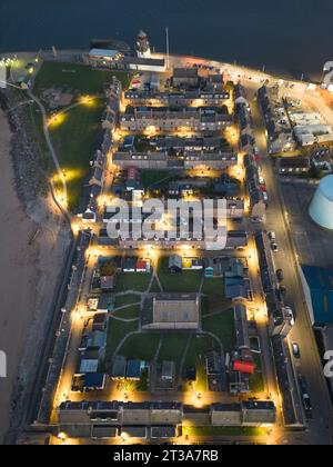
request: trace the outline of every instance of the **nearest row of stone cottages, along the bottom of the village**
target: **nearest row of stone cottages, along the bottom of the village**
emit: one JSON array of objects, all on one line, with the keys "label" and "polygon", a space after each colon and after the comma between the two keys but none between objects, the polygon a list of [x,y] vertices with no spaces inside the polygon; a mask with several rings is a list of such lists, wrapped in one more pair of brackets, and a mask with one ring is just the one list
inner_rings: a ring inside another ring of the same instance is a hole
[{"label": "nearest row of stone cottages, along the bottom of the village", "polygon": [[[213,404],[202,413],[212,426],[271,426],[276,421],[272,401],[255,400],[241,404]],[[62,403],[58,409],[59,425],[68,435],[90,437],[92,426],[179,426],[195,417],[192,407],[181,403]]]}]

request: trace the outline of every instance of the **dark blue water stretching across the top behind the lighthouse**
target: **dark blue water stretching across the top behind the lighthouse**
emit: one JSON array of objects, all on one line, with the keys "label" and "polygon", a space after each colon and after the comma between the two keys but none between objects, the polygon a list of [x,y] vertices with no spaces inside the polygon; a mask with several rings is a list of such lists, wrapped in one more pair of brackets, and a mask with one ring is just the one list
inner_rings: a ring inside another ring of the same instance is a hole
[{"label": "dark blue water stretching across the top behind the lighthouse", "polygon": [[332,0],[1,0],[0,51],[133,44],[144,29],[158,51],[320,76],[333,60]]}]

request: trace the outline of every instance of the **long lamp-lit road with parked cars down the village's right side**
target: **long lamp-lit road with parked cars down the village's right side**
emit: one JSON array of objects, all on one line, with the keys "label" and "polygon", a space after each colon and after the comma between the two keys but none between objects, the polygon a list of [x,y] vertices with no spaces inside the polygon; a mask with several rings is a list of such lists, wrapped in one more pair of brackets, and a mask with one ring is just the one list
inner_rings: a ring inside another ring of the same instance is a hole
[{"label": "long lamp-lit road with parked cars down the village's right side", "polygon": [[316,445],[332,444],[332,405],[299,276],[299,264],[291,238],[291,226],[289,225],[279,179],[266,151],[265,128],[258,105],[254,101],[256,87],[249,85],[249,82],[245,86],[251,100],[255,127],[254,136],[262,155],[263,177],[266,181],[269,193],[270,207],[265,228],[276,232],[279,252],[274,255],[275,266],[276,269],[281,268],[284,271],[285,286],[287,288],[286,304],[295,310],[296,315],[296,324],[290,337],[291,341],[296,341],[300,345],[302,354],[296,372],[306,378],[313,403],[314,417],[313,420],[309,421],[311,439]]}]

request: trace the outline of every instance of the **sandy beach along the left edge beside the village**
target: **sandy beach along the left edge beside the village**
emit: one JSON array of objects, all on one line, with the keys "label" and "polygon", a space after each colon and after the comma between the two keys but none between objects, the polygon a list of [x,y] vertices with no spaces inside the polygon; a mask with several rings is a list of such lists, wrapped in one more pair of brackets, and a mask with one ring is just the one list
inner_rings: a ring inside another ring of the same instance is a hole
[{"label": "sandy beach along the left edge beside the village", "polygon": [[68,232],[48,200],[28,207],[29,215],[19,202],[10,138],[0,110],[0,350],[6,351],[8,360],[8,377],[0,379],[0,444],[12,409],[21,410],[20,398],[31,382],[68,245]]}]

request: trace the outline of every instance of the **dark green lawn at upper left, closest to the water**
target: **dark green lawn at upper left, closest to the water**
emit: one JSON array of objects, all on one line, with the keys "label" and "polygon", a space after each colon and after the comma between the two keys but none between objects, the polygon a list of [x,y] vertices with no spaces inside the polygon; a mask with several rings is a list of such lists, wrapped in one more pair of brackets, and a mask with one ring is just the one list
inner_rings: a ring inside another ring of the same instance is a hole
[{"label": "dark green lawn at upper left, closest to the water", "polygon": [[127,89],[131,74],[108,70],[94,70],[84,64],[44,61],[34,81],[33,91],[41,95],[46,89],[63,89],[73,93],[100,93],[115,76]]}]

